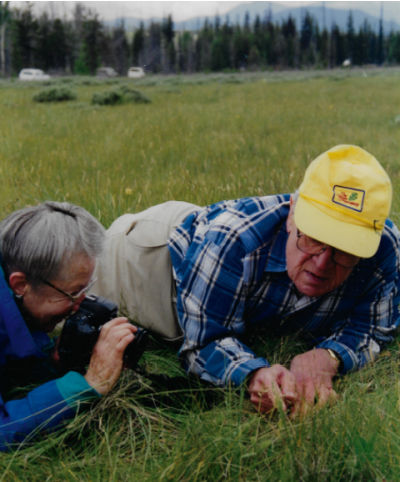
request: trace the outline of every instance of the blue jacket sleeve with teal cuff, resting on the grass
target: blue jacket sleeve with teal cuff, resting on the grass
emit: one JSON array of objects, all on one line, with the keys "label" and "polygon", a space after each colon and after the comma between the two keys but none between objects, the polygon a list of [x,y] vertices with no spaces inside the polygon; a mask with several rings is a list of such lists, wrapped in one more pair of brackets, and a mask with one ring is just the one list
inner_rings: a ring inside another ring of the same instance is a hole
[{"label": "blue jacket sleeve with teal cuff, resting on the grass", "polygon": [[0,397],[0,450],[6,451],[72,418],[82,403],[99,398],[85,378],[68,372],[6,403]]}]

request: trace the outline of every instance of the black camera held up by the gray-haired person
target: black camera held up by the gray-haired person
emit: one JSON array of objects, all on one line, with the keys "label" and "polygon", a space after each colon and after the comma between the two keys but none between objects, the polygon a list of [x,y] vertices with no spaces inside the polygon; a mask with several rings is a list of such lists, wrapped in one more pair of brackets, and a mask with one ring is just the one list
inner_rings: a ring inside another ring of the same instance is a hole
[{"label": "black camera held up by the gray-haired person", "polygon": [[[104,323],[118,315],[113,302],[101,296],[88,295],[78,311],[64,323],[58,344],[61,367],[68,371],[84,373],[89,364],[93,347]],[[148,332],[138,328],[134,340],[126,347],[124,365],[134,370],[148,341]]]}]

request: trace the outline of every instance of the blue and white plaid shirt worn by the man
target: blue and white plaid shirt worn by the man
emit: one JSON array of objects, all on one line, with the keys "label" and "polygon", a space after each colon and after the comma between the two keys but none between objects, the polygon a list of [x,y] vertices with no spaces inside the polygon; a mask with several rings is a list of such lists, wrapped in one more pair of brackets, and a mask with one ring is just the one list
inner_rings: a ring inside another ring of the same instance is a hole
[{"label": "blue and white plaid shirt worn by the man", "polygon": [[171,235],[189,372],[216,385],[241,384],[269,366],[240,341],[249,326],[302,332],[331,348],[343,373],[373,360],[399,324],[400,233],[386,222],[373,258],[360,260],[336,290],[299,293],[286,272],[289,195],[222,201],[189,215]]}]

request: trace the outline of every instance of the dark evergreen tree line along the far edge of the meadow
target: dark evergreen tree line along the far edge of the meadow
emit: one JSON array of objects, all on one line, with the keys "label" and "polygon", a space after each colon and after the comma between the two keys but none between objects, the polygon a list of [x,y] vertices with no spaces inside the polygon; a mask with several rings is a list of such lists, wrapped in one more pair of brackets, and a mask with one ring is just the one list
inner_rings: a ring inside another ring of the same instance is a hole
[{"label": "dark evergreen tree line along the far edge of the meadow", "polygon": [[171,16],[133,33],[125,25],[107,28],[98,14],[76,4],[71,19],[35,16],[32,4],[10,9],[0,1],[0,72],[15,75],[24,67],[49,72],[94,74],[99,66],[126,75],[131,65],[154,73],[192,73],[267,68],[333,68],[400,63],[400,33],[378,32],[367,21],[355,29],[349,11],[347,28],[321,29],[306,11],[301,25],[292,17],[280,23],[266,13],[243,25],[216,17],[200,30],[175,31]]}]

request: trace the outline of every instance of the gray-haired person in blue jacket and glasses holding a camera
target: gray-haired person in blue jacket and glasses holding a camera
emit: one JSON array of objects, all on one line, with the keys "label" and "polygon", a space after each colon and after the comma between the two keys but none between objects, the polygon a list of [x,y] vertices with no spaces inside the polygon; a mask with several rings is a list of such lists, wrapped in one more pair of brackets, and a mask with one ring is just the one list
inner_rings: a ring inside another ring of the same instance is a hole
[{"label": "gray-haired person in blue jacket and glasses holding a camera", "polygon": [[[85,375],[60,376],[47,335],[79,308],[103,241],[99,222],[68,203],[21,209],[0,223],[0,450],[73,417],[119,378],[136,331],[126,318],[103,326]],[[33,382],[42,384],[14,399],[13,388]]]}]

